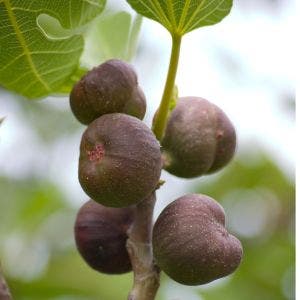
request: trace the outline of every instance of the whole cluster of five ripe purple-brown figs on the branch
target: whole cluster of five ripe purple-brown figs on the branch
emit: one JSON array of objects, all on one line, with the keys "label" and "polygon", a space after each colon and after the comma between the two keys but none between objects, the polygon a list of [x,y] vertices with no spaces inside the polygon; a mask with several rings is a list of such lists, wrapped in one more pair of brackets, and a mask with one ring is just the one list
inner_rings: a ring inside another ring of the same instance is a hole
[{"label": "whole cluster of five ripe purple-brown figs on the branch", "polygon": [[[209,101],[179,98],[159,143],[142,122],[146,100],[137,75],[117,59],[83,76],[71,91],[70,105],[88,126],[80,145],[79,182],[91,200],[76,218],[78,251],[99,272],[129,272],[126,240],[136,204],[157,189],[162,169],[192,178],[225,166],[235,152],[234,127]],[[225,228],[223,208],[201,194],[180,197],[162,211],[152,244],[159,268],[185,285],[232,273],[243,252]]]}]

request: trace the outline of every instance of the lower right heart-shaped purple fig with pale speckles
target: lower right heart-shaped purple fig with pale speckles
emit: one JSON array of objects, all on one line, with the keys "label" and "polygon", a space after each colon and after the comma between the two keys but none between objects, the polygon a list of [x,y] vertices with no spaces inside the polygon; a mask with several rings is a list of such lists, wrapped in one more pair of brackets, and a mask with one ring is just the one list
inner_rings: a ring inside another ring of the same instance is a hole
[{"label": "lower right heart-shaped purple fig with pale speckles", "polygon": [[235,271],[243,249],[225,229],[223,208],[208,196],[188,194],[159,215],[153,228],[153,253],[173,280],[200,285]]}]

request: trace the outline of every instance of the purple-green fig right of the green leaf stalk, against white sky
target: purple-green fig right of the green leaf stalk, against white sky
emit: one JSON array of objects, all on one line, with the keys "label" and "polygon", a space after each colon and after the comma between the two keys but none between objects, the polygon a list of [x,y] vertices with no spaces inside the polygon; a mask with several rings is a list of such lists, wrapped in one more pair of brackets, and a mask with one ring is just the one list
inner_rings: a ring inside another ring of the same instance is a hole
[{"label": "purple-green fig right of the green leaf stalk, against white sky", "polygon": [[236,133],[219,107],[199,97],[183,97],[169,116],[161,144],[164,169],[193,178],[215,172],[231,160]]}]

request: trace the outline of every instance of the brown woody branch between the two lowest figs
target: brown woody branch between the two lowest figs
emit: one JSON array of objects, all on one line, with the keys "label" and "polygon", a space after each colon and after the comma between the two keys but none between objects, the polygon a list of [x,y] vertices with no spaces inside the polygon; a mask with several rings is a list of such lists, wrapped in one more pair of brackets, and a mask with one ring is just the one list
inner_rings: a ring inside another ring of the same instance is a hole
[{"label": "brown woody branch between the two lowest figs", "polygon": [[159,288],[159,268],[152,254],[152,219],[156,202],[153,192],[138,203],[128,230],[127,251],[134,272],[134,283],[128,300],[154,300]]}]

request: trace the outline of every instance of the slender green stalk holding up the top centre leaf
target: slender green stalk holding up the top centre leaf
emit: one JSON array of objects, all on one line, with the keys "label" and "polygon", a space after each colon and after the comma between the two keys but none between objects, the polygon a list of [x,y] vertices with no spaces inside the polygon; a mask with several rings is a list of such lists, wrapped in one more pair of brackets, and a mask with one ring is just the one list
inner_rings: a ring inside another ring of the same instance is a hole
[{"label": "slender green stalk holding up the top centre leaf", "polygon": [[163,96],[157,111],[156,118],[153,121],[152,131],[156,138],[160,141],[164,135],[167,124],[168,112],[175,86],[176,73],[180,55],[181,36],[178,34],[172,35],[172,52],[169,64],[167,80],[163,92]]}]

